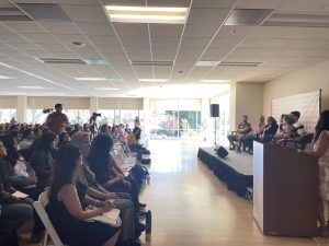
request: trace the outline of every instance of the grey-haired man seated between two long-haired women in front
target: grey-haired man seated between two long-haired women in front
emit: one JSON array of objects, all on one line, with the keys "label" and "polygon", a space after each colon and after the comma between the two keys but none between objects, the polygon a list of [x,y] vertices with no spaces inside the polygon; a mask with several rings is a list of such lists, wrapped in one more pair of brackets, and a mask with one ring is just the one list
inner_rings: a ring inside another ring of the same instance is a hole
[{"label": "grey-haired man seated between two long-haired women in front", "polygon": [[89,199],[92,203],[100,202],[100,200],[111,199],[115,208],[121,210],[120,216],[122,219],[122,231],[120,239],[121,242],[124,242],[122,245],[133,246],[134,243],[132,241],[139,236],[140,231],[138,231],[138,229],[140,230],[143,225],[139,224],[138,214],[134,210],[131,197],[125,194],[109,192],[97,183],[95,175],[86,163],[86,156],[90,148],[90,133],[75,133],[72,136],[71,143],[76,144],[82,154],[81,176],[79,178],[79,183],[88,187],[87,195],[90,197]]}]

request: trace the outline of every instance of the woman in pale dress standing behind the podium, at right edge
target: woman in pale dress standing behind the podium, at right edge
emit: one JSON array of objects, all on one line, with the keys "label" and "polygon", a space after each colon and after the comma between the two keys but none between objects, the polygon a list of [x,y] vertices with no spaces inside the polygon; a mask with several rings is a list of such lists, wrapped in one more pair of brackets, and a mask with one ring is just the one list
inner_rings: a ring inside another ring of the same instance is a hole
[{"label": "woman in pale dress standing behind the podium, at right edge", "polygon": [[329,210],[329,110],[321,113],[316,126],[314,150],[298,150],[297,152],[310,154],[319,160],[319,235],[322,237],[329,237],[329,224],[326,226],[324,211],[324,202],[328,203],[327,208]]}]

